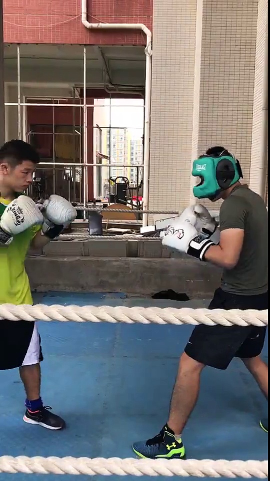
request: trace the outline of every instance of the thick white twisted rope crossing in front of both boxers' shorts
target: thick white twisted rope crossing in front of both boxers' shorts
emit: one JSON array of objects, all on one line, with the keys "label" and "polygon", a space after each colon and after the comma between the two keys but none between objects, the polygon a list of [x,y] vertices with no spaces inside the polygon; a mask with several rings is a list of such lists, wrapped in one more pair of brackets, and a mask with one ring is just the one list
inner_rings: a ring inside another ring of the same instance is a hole
[{"label": "thick white twisted rope crossing in front of both boxers' shorts", "polygon": [[10,321],[74,321],[125,324],[205,324],[206,326],[267,326],[268,310],[190,309],[110,306],[46,306],[0,304],[0,319]]}]

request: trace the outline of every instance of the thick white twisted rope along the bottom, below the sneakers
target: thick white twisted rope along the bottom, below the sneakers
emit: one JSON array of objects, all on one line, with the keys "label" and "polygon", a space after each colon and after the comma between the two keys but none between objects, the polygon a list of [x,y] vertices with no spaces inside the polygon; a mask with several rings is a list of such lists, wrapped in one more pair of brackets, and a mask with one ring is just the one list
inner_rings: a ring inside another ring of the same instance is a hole
[{"label": "thick white twisted rope along the bottom, below the sneakers", "polygon": [[227,461],[219,459],[108,459],[97,457],[0,457],[0,472],[26,474],[101,474],[109,476],[196,476],[196,477],[244,477],[266,478],[268,461]]}]

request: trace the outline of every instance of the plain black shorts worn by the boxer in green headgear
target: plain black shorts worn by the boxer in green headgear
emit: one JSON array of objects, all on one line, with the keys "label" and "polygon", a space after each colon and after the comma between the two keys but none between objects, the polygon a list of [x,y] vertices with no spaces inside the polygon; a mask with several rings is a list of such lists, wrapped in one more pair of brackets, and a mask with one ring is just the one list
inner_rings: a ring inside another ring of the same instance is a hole
[{"label": "plain black shorts worn by the boxer in green headgear", "polygon": [[[208,309],[268,309],[268,292],[239,296],[216,289]],[[266,327],[213,326],[200,324],[193,329],[184,352],[197,362],[226,369],[233,357],[251,358],[261,353]]]}]

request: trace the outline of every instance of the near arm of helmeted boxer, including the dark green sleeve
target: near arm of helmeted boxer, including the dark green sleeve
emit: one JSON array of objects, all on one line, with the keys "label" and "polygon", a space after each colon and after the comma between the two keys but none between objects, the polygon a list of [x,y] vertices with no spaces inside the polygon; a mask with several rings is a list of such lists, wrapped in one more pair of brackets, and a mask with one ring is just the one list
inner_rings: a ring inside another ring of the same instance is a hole
[{"label": "near arm of helmeted boxer, including the dark green sleeve", "polygon": [[224,269],[236,266],[243,246],[246,212],[244,199],[231,195],[224,200],[219,213],[219,244],[207,249],[205,261]]}]

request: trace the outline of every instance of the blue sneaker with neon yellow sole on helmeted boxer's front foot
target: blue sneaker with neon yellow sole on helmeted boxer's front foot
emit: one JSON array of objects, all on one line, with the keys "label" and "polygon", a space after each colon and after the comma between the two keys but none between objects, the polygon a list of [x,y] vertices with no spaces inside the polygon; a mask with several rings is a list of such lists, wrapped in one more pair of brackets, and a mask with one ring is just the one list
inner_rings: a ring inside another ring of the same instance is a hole
[{"label": "blue sneaker with neon yellow sole on helmeted boxer's front foot", "polygon": [[149,459],[185,459],[185,449],[181,439],[165,424],[157,436],[147,441],[134,442],[132,449],[139,457]]}]

